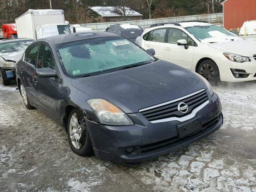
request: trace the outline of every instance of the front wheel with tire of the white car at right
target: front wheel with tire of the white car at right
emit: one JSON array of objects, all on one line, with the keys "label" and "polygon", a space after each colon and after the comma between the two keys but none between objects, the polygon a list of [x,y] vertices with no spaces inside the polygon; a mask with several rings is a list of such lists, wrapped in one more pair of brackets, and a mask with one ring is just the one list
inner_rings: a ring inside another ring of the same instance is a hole
[{"label": "front wheel with tire of the white car at right", "polygon": [[213,60],[209,59],[201,62],[198,66],[197,73],[206,78],[210,84],[216,84],[220,81],[220,72]]}]

